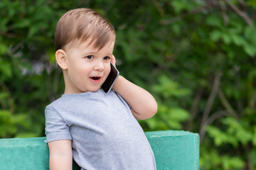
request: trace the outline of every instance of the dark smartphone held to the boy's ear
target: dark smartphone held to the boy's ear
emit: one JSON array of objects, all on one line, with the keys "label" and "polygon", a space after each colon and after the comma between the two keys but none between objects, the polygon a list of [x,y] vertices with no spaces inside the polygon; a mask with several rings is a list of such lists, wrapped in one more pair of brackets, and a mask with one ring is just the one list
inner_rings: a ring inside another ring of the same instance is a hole
[{"label": "dark smartphone held to the boy's ear", "polygon": [[108,75],[106,81],[102,84],[101,88],[105,93],[110,92],[112,89],[112,86],[114,85],[114,82],[117,80],[117,77],[119,76],[119,72],[116,67],[110,62],[110,74]]}]

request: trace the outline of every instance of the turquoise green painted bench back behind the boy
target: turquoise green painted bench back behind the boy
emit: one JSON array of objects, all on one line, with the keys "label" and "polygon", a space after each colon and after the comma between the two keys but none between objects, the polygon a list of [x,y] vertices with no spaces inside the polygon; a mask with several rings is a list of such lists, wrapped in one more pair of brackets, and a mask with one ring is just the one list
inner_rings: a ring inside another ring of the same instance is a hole
[{"label": "turquoise green painted bench back behind the boy", "polygon": [[[197,133],[166,130],[145,132],[153,149],[157,169],[198,170],[199,136]],[[0,170],[49,169],[46,137],[0,140]],[[73,169],[79,169],[73,164]]]}]

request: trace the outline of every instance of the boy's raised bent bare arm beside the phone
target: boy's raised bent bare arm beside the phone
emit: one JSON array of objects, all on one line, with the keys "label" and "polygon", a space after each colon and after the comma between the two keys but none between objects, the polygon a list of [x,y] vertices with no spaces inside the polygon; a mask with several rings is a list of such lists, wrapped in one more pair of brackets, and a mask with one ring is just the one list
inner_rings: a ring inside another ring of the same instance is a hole
[{"label": "boy's raised bent bare arm beside the phone", "polygon": [[117,78],[113,90],[131,106],[132,114],[139,120],[151,118],[157,111],[157,103],[148,91],[122,76]]}]

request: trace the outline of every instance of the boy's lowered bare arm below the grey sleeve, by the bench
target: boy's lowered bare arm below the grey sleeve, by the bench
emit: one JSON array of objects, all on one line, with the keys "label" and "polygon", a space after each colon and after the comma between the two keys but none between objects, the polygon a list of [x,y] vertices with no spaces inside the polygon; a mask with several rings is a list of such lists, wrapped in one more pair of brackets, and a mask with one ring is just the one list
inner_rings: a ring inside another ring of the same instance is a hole
[{"label": "boy's lowered bare arm below the grey sleeve, by the bench", "polygon": [[50,170],[72,170],[71,140],[56,140],[48,142],[50,151]]}]

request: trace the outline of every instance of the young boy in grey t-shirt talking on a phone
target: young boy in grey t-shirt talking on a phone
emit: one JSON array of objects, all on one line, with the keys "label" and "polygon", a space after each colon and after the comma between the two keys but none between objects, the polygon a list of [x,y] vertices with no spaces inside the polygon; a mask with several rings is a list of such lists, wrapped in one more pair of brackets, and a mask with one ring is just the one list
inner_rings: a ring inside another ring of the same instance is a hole
[{"label": "young boy in grey t-shirt talking on a phone", "polygon": [[65,13],[55,30],[55,57],[65,91],[46,107],[50,169],[156,169],[154,154],[136,119],[157,111],[154,97],[119,76],[100,89],[115,64],[112,25],[89,8]]}]

